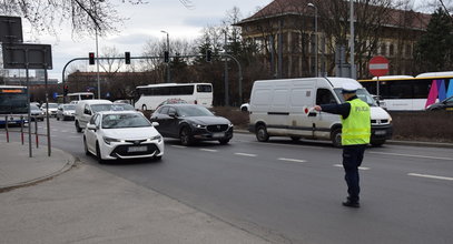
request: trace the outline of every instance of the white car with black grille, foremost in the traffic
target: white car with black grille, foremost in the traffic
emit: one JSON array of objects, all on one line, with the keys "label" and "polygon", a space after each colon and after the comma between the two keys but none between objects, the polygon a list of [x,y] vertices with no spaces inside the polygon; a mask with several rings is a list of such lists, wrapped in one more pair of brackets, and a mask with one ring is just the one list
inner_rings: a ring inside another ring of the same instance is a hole
[{"label": "white car with black grille, foremost in the traffic", "polygon": [[136,111],[102,111],[91,116],[83,132],[85,153],[99,163],[106,160],[164,155],[164,138],[145,115]]}]

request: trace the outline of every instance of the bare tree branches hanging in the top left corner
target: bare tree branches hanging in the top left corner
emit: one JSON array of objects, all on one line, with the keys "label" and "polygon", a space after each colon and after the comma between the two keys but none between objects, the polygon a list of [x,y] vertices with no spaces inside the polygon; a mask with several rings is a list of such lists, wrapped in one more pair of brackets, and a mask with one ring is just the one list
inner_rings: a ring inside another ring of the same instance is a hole
[{"label": "bare tree branches hanging in the top left corner", "polygon": [[[190,0],[179,0],[191,8]],[[146,4],[146,0],[121,0],[121,3]],[[69,21],[72,33],[100,35],[116,31],[117,24],[126,19],[120,17],[114,0],[0,0],[0,13],[20,16],[27,19],[35,31],[48,31],[57,35],[58,24]]]}]

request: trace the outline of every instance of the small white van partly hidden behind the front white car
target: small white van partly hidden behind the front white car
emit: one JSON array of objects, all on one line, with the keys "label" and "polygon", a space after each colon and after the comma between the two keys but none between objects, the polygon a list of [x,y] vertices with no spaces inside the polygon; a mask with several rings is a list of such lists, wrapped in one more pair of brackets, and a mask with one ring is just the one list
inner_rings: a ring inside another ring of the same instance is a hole
[{"label": "small white van partly hidden behind the front white car", "polygon": [[108,100],[80,100],[76,105],[76,130],[81,132],[90,121],[91,115],[100,111],[111,110],[112,102]]}]

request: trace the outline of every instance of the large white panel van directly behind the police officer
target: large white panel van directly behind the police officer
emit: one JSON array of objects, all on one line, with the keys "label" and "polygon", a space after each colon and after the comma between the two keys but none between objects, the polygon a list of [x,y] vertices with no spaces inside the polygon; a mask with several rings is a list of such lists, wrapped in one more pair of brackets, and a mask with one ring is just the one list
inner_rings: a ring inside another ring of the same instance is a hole
[{"label": "large white panel van directly behind the police officer", "polygon": [[382,145],[392,138],[392,118],[380,108],[370,93],[357,81],[347,78],[301,78],[255,81],[250,94],[250,124],[248,130],[265,142],[269,136],[289,136],[331,140],[342,145],[339,115],[315,112],[316,104],[343,103],[341,93],[344,83],[354,83],[361,89],[357,96],[371,106],[372,145]]}]

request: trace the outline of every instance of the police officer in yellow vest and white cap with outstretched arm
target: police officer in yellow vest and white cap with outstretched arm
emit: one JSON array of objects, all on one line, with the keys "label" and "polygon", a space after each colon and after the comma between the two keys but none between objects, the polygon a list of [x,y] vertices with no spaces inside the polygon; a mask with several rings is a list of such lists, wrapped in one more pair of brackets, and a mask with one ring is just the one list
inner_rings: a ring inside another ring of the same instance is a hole
[{"label": "police officer in yellow vest and white cap with outstretched arm", "polygon": [[342,118],[342,145],[343,145],[343,167],[347,183],[347,200],[344,206],[360,207],[358,193],[358,166],[362,164],[363,154],[370,143],[371,118],[370,105],[357,98],[358,87],[353,83],[345,83],[342,94],[345,103],[315,105],[316,111],[339,114]]}]

